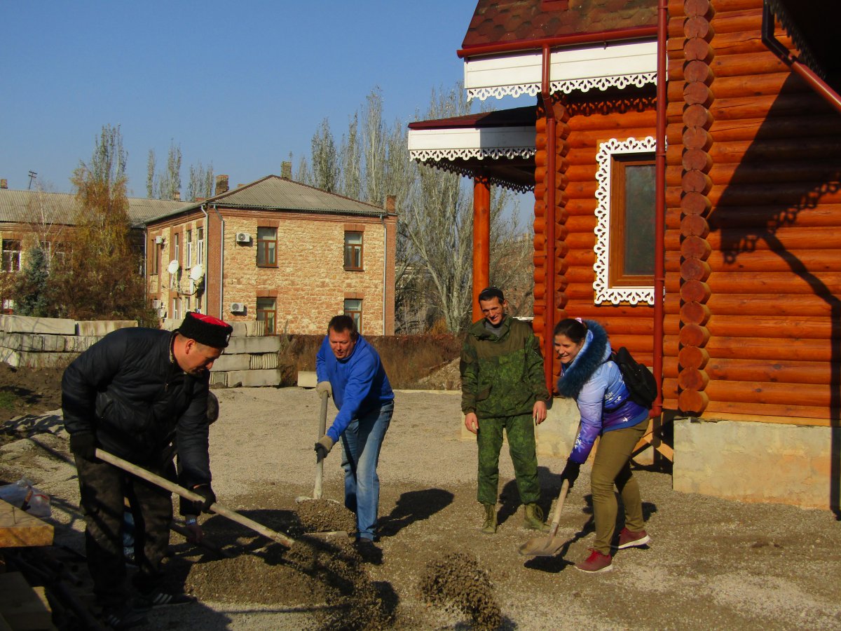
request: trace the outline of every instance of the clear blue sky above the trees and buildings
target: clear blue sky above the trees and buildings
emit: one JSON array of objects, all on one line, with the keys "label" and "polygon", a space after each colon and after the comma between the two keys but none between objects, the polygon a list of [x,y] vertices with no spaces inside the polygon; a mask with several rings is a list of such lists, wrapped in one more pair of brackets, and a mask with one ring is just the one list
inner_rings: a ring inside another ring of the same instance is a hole
[{"label": "clear blue sky above the trees and buildings", "polygon": [[120,125],[131,194],[145,197],[146,156],[182,150],[182,193],[199,160],[231,186],[309,155],[317,125],[336,140],[374,87],[387,119],[410,120],[433,87],[463,78],[474,0],[319,3],[6,3],[0,178],[29,170],[55,192]]}]

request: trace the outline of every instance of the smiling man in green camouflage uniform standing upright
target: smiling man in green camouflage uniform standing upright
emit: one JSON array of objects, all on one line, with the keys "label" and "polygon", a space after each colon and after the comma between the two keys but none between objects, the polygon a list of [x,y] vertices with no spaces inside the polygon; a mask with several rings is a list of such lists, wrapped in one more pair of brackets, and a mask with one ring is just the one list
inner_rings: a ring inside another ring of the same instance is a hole
[{"label": "smiling man in green camouflage uniform standing upright", "polygon": [[478,499],[484,506],[482,532],[496,532],[496,496],[500,481],[502,432],[514,464],[517,490],[525,508],[524,526],[546,532],[537,501],[537,452],[533,423],[546,419],[549,393],[543,357],[532,327],[505,315],[500,289],[479,294],[484,318],[468,329],[461,358],[464,425],[479,445]]}]

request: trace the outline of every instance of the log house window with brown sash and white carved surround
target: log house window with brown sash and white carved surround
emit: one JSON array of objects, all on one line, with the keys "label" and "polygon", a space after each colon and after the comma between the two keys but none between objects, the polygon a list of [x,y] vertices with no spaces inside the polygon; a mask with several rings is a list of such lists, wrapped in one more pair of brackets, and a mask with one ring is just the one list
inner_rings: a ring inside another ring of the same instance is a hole
[{"label": "log house window with brown sash and white carved surround", "polygon": [[651,136],[600,144],[596,303],[654,303],[654,148]]}]

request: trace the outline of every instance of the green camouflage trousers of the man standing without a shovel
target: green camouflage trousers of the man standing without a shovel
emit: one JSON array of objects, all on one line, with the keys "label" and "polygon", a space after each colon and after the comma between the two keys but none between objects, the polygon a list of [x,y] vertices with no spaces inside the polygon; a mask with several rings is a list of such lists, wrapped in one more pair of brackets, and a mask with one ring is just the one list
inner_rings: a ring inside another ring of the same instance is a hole
[{"label": "green camouflage trousers of the man standing without a shovel", "polygon": [[476,442],[479,444],[479,492],[483,504],[496,504],[500,485],[500,449],[502,432],[508,437],[508,453],[514,464],[520,501],[532,504],[540,500],[537,481],[537,451],[534,441],[534,421],[531,414],[500,416],[479,420]]}]

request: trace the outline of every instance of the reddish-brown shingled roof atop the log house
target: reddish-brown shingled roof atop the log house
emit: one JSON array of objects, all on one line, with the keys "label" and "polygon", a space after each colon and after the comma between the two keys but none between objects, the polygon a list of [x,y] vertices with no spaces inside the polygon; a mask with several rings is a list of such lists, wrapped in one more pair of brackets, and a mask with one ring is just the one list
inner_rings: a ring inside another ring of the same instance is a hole
[{"label": "reddish-brown shingled roof atop the log house", "polygon": [[656,24],[657,0],[479,0],[462,48]]}]

